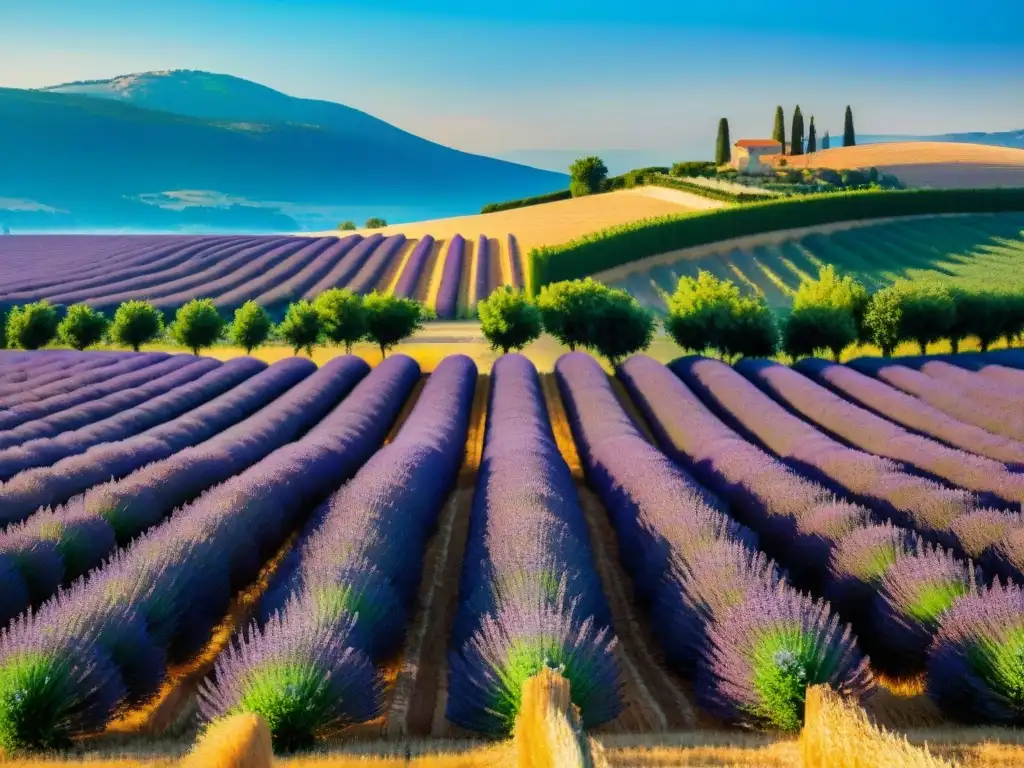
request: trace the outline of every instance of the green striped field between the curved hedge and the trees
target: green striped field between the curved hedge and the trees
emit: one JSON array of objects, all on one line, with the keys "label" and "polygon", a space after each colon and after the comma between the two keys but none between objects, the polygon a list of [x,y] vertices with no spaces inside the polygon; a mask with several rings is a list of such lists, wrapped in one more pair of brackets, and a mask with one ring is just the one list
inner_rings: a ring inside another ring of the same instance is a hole
[{"label": "green striped field between the curved hedge and the trees", "polygon": [[[655,257],[656,259],[657,257]],[[611,281],[662,312],[662,295],[679,279],[707,269],[785,307],[800,282],[835,264],[874,290],[896,280],[928,278],[965,288],[1024,291],[1024,214],[936,216],[867,224],[828,234],[807,234],[779,245],[723,248],[680,258]]]}]

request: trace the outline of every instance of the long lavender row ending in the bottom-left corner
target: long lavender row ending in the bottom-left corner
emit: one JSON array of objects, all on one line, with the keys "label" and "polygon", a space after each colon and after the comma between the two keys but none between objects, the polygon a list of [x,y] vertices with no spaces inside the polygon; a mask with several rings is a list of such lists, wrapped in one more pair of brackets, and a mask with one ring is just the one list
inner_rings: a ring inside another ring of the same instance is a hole
[{"label": "long lavender row ending in the bottom-left corner", "polygon": [[[101,658],[111,670],[101,676],[105,684],[83,686],[74,699],[76,708],[94,713],[82,727],[101,727],[126,695],[144,695],[153,684],[154,676],[143,674],[144,662],[160,659],[138,655],[143,646],[127,631],[135,616],[144,621],[150,647],[166,651],[167,659],[201,647],[231,590],[254,579],[260,558],[281,546],[303,512],[377,450],[418,378],[419,368],[408,357],[382,364],[325,418],[326,428],[316,436],[279,449],[182,508],[71,595],[49,601],[31,622],[16,623],[0,638],[0,681],[27,680],[19,677],[25,648],[40,648],[32,662],[44,673],[58,664],[97,670]],[[70,697],[46,695],[52,685],[47,674],[28,682],[30,687],[20,685],[22,695],[0,696],[4,738],[41,744],[62,737],[61,708]]]}]

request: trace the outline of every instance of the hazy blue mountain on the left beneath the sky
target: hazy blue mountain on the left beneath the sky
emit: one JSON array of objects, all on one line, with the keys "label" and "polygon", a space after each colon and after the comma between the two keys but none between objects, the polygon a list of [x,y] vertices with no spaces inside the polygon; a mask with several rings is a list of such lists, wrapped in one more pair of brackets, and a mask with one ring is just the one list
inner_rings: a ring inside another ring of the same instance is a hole
[{"label": "hazy blue mountain on the left beneath the sky", "polygon": [[325,228],[475,213],[568,183],[191,71],[0,88],[0,225],[14,231]]}]

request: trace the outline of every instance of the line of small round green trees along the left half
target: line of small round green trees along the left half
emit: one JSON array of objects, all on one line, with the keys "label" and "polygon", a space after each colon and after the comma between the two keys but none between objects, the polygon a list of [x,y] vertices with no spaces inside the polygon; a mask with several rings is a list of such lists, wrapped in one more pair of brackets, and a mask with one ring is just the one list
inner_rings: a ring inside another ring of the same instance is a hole
[{"label": "line of small round green trees along the left half", "polygon": [[126,301],[112,319],[85,304],[69,307],[61,318],[57,307],[38,301],[10,310],[4,337],[8,346],[22,349],[39,349],[57,341],[81,350],[106,340],[135,351],[143,344],[170,338],[194,354],[221,340],[247,353],[280,340],[296,354],[305,349],[310,355],[324,343],[344,345],[351,353],[353,344],[366,340],[387,356],[389,349],[412,336],[430,315],[427,307],[412,299],[377,293],[360,296],[345,289],[326,291],[312,302],[291,304],[276,326],[254,301],[239,307],[228,323],[210,299],[195,299],[178,309],[170,325],[145,301]]}]

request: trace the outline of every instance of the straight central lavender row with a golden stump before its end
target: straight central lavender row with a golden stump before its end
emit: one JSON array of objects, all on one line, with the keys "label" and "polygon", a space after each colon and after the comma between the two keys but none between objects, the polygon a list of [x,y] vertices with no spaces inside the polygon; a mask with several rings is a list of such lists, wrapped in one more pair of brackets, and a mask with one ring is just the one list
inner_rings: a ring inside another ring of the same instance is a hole
[{"label": "straight central lavender row with a golden stump before its end", "polygon": [[618,669],[601,582],[540,377],[519,354],[495,364],[483,456],[452,632],[446,716],[508,732],[522,684],[561,670],[588,726],[618,714]]}]

